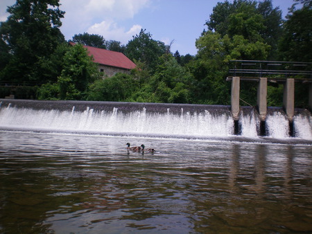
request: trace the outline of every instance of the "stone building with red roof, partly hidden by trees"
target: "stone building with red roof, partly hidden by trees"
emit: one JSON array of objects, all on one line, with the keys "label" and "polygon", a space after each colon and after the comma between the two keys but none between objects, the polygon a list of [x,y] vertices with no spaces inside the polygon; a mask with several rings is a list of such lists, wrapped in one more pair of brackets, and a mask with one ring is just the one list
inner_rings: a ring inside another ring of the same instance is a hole
[{"label": "stone building with red roof, partly hidden by trees", "polygon": [[[72,46],[74,42],[69,42]],[[83,46],[92,55],[94,62],[98,64],[98,70],[103,72],[108,77],[116,73],[130,73],[131,69],[135,69],[135,63],[128,59],[123,53],[116,51],[107,51],[103,48],[96,48],[92,46]]]}]

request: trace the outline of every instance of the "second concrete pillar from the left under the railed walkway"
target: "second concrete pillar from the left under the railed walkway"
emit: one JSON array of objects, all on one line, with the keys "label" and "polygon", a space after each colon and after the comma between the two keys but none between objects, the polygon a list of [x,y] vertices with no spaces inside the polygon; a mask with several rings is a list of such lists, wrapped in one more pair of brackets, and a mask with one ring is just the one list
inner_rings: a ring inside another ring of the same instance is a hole
[{"label": "second concrete pillar from the left under the railed walkway", "polygon": [[266,120],[267,93],[268,93],[268,78],[260,78],[259,84],[258,84],[257,106],[258,106],[259,118],[261,121]]}]

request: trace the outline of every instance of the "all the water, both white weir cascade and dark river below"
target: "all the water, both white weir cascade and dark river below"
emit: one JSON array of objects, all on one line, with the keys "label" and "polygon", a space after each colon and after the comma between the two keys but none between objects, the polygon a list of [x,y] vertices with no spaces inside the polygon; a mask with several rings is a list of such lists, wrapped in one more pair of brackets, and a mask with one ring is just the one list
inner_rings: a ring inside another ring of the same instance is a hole
[{"label": "all the water, both white weir cascade and dark river below", "polygon": [[[312,233],[312,120],[1,100],[0,233]],[[144,143],[153,154],[126,150]]]}]

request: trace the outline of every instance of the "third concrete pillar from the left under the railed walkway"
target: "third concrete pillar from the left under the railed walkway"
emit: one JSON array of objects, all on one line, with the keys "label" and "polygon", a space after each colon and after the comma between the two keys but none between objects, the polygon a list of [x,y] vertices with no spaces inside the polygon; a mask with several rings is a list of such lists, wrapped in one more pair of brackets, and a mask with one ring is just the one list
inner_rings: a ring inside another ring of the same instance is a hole
[{"label": "third concrete pillar from the left under the railed walkway", "polygon": [[289,121],[293,121],[295,115],[295,79],[289,78],[284,84],[284,109]]}]

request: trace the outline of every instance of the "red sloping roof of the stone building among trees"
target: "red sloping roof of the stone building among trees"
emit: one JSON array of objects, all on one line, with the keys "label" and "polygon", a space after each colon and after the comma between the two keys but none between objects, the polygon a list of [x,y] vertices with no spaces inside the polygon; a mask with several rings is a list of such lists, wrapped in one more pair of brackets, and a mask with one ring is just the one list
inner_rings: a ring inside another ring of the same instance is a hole
[{"label": "red sloping roof of the stone building among trees", "polygon": [[[76,43],[69,42],[72,46]],[[123,53],[116,51],[107,51],[103,48],[96,48],[92,46],[83,46],[89,51],[89,55],[94,57],[94,62],[98,64],[103,64],[106,66],[115,66],[121,69],[135,69],[135,63],[132,62],[127,56]]]}]

